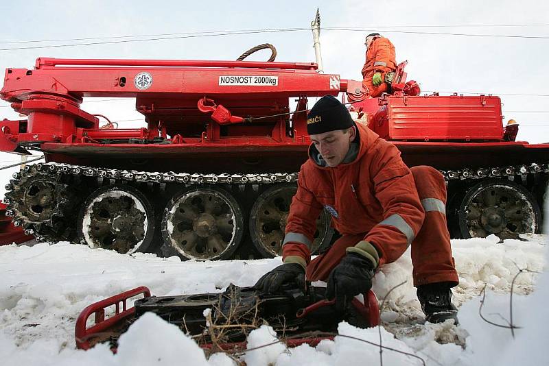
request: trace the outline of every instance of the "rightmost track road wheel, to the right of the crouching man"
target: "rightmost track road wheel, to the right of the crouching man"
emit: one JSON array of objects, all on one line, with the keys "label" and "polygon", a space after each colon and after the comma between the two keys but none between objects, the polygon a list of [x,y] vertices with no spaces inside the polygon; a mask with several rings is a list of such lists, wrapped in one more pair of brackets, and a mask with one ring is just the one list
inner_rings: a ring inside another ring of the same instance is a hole
[{"label": "rightmost track road wheel, to the right of the crouching man", "polygon": [[464,239],[490,234],[500,239],[519,239],[537,232],[539,206],[530,192],[507,180],[484,180],[465,193],[458,206],[458,224]]}]

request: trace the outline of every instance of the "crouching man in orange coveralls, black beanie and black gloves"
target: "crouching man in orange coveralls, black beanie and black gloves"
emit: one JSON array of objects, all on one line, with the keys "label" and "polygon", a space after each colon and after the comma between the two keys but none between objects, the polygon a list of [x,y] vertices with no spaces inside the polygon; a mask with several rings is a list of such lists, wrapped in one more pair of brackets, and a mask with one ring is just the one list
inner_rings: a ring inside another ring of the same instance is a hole
[{"label": "crouching man in orange coveralls, black beanie and black gloves", "polygon": [[[454,319],[458,284],[446,228],[444,178],[432,167],[408,169],[395,145],[356,125],[331,95],[307,114],[309,159],[301,166],[282,247],[283,265],[266,273],[256,289],[276,292],[283,283],[327,281],[327,297],[344,310],[367,293],[375,270],[412,245],[414,286],[425,319]],[[342,234],[311,260],[316,219],[325,208]]]}]

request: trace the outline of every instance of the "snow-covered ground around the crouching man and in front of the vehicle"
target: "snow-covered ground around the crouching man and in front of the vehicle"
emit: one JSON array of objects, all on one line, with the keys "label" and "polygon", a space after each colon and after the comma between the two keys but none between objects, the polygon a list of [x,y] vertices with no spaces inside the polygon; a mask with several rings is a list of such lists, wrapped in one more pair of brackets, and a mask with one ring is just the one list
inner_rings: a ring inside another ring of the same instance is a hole
[{"label": "snow-covered ground around the crouching man and in front of the vehicle", "polygon": [[[549,275],[546,235],[525,236],[528,241],[498,238],[454,240],[454,257],[460,285],[454,289],[460,326],[423,324],[423,314],[411,284],[409,253],[386,265],[375,277],[374,291],[390,293],[382,313],[383,345],[422,358],[427,365],[549,365],[546,324],[549,310]],[[208,360],[198,345],[178,328],[148,314],[119,340],[113,355],[106,345],[75,349],[75,318],[87,305],[105,297],[148,286],[154,295],[222,291],[231,282],[250,286],[280,258],[200,263],[153,254],[120,255],[69,243],[0,247],[0,362],[2,365],[233,365],[225,354]],[[511,331],[480,319],[479,293],[487,285],[482,313],[489,320],[509,320],[511,281],[519,269],[513,296]],[[533,272],[539,272],[536,274]],[[358,329],[346,323],[340,334],[379,343],[376,329]],[[270,343],[272,330],[262,326],[248,338],[248,347]],[[344,337],[322,341],[317,347],[286,349],[271,345],[247,352],[247,365],[379,365],[379,347]],[[422,365],[389,350],[383,365]]]}]

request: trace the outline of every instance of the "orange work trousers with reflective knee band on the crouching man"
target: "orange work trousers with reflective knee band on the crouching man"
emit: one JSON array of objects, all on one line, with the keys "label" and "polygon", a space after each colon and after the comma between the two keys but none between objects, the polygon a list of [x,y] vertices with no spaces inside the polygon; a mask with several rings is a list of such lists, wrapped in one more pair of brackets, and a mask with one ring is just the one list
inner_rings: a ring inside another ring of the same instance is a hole
[{"label": "orange work trousers with reflective knee band on the crouching man", "polygon": [[[436,282],[451,282],[452,286],[456,286],[459,279],[446,226],[446,186],[443,175],[436,169],[425,166],[412,167],[410,171],[414,176],[419,199],[425,208],[425,220],[412,241],[414,286]],[[320,254],[307,265],[307,280],[327,281],[331,270],[346,255],[345,249],[364,239],[365,235],[366,233],[341,236],[325,254]],[[379,263],[384,263],[383,258]]]}]

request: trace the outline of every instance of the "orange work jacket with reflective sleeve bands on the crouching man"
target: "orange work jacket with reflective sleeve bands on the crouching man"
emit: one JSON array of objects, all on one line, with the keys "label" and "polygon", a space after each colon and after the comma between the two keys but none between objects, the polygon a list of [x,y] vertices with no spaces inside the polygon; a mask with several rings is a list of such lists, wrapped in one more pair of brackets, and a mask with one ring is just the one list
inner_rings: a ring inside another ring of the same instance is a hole
[{"label": "orange work jacket with reflective sleeve bands on the crouching man", "polygon": [[285,230],[283,259],[301,256],[308,264],[316,219],[325,208],[341,234],[364,234],[381,254],[380,264],[399,258],[419,232],[425,217],[410,169],[392,143],[357,125],[356,158],[322,167],[313,156],[301,166]]}]

